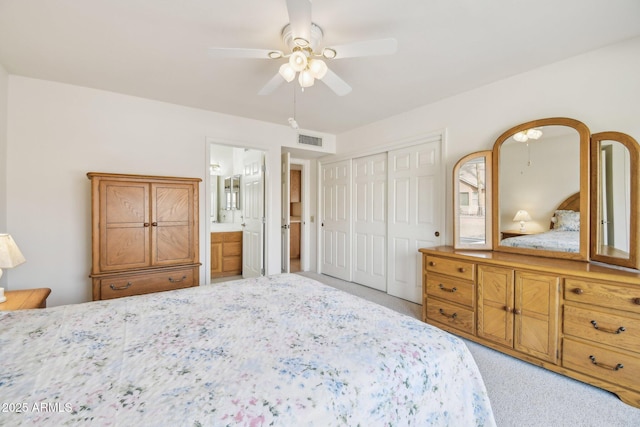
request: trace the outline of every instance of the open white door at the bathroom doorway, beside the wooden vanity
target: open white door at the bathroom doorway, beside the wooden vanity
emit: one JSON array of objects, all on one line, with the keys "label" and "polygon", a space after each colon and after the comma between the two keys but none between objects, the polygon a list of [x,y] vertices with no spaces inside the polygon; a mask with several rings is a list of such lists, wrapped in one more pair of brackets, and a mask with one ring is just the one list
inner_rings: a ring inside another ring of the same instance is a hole
[{"label": "open white door at the bathroom doorway, beside the wooden vanity", "polygon": [[262,276],[264,268],[264,154],[245,151],[242,173],[242,276]]}]

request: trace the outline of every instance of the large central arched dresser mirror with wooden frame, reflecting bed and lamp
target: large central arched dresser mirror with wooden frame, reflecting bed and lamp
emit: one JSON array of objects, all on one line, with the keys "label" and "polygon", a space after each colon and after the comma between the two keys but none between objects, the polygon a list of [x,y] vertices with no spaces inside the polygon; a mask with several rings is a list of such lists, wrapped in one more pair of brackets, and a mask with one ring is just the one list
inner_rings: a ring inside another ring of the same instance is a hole
[{"label": "large central arched dresser mirror with wooden frame, reflecting bed and lamp", "polygon": [[589,129],[534,120],[493,148],[494,250],[589,259]]}]

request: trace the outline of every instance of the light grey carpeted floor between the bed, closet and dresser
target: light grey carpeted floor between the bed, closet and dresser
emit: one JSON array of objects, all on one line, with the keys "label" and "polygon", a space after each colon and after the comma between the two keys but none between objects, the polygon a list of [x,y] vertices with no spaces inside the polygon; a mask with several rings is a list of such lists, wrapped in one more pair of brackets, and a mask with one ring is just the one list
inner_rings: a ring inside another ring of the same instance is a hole
[{"label": "light grey carpeted floor between the bed, closet and dresser", "polygon": [[[298,273],[420,319],[422,307],[322,274]],[[617,396],[464,340],[482,373],[499,427],[640,426],[640,409]],[[640,378],[638,378],[640,381]]]}]

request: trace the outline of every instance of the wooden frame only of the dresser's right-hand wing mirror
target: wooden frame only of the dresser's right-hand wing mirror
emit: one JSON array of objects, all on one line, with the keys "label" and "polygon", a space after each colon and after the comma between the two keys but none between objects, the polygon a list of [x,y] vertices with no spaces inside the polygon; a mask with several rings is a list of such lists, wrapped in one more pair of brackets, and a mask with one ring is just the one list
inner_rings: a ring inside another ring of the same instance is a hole
[{"label": "wooden frame only of the dresser's right-hand wing mirror", "polygon": [[[629,256],[619,258],[598,253],[600,236],[600,145],[602,141],[616,141],[624,145],[629,150],[629,170],[630,170],[630,198],[629,198]],[[640,145],[631,136],[621,132],[599,132],[591,135],[591,259],[593,261],[618,265],[621,267],[640,268],[638,264],[638,251],[640,239],[638,238],[638,216],[640,215]]]}]

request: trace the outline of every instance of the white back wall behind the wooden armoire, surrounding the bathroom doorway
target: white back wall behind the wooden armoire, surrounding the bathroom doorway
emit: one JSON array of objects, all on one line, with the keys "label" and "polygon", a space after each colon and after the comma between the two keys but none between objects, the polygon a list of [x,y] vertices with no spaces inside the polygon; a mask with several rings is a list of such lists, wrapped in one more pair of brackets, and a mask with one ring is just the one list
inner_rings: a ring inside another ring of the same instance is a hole
[{"label": "white back wall behind the wooden armoire, surrounding the bathroom doorway", "polygon": [[[8,86],[7,228],[27,259],[12,270],[9,288],[49,287],[51,306],[90,300],[86,173],[204,180],[208,138],[266,152],[266,272],[280,272],[279,256],[269,254],[280,254],[280,150],[297,146],[289,127],[20,76],[9,76]],[[334,150],[335,137],[323,137],[325,150]],[[204,267],[200,276],[204,282]]]}]

